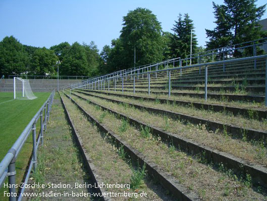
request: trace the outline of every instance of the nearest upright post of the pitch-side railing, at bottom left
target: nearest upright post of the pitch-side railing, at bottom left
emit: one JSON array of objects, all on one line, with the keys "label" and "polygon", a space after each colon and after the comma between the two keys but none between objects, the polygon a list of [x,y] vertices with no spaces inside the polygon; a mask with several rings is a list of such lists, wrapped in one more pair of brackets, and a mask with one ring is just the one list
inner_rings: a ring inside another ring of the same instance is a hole
[{"label": "nearest upright post of the pitch-side railing, at bottom left", "polygon": [[13,153],[13,159],[11,160],[9,167],[8,167],[8,177],[9,177],[9,185],[11,186],[9,188],[10,201],[16,201],[17,200],[17,189],[16,189],[16,150],[10,149],[9,152]]}]

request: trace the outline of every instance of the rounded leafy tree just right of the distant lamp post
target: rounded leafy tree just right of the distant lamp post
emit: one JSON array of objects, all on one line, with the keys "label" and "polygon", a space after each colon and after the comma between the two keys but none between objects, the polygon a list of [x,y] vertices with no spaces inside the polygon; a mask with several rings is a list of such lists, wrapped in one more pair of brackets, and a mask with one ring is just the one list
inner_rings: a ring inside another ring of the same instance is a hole
[{"label": "rounded leafy tree just right of the distant lamp post", "polygon": [[88,61],[85,48],[78,42],[66,51],[62,58],[60,74],[62,75],[89,75]]}]

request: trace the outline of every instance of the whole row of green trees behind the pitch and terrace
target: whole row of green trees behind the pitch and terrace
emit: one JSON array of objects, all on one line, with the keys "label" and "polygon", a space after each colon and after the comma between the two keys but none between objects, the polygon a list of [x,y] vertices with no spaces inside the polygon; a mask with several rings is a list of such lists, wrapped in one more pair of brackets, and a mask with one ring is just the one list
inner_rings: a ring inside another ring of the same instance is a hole
[{"label": "whole row of green trees behind the pitch and terrace", "polygon": [[[262,31],[258,24],[266,5],[256,7],[255,2],[224,0],[223,5],[213,2],[216,27],[213,30],[206,29],[209,39],[206,42],[207,49],[266,37],[267,32]],[[95,76],[134,65],[186,58],[190,55],[191,31],[192,54],[205,51],[197,47],[193,20],[188,14],[179,14],[171,30],[173,33],[163,31],[161,23],[150,10],[136,8],[123,17],[120,36],[111,41],[111,46],[104,46],[100,53],[93,41],[89,44],[75,42],[72,45],[63,42],[47,49],[22,45],[14,36],[6,36],[0,42],[0,76],[53,75],[57,70],[57,60],[61,61],[61,75]],[[252,48],[242,53],[237,51],[234,56],[249,55],[251,51]],[[257,50],[257,54],[260,51]]]}]

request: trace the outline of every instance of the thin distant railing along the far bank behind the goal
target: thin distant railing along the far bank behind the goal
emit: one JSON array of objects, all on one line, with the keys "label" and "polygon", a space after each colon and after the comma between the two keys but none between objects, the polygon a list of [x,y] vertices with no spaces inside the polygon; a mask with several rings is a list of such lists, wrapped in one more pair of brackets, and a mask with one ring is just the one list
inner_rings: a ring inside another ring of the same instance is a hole
[{"label": "thin distant railing along the far bank behind the goal", "polygon": [[[9,75],[9,79],[13,77],[22,77],[26,79],[58,79],[58,75]],[[76,75],[60,75],[59,79],[88,79],[89,76]]]}]

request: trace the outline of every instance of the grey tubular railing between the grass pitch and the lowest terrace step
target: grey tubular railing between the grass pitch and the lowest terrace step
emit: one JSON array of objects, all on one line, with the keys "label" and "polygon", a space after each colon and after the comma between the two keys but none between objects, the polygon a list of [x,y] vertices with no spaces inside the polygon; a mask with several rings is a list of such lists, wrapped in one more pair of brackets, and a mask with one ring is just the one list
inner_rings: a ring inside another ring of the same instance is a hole
[{"label": "grey tubular railing between the grass pitch and the lowest terrace step", "polygon": [[[30,120],[30,123],[26,126],[24,131],[21,133],[19,138],[16,140],[16,142],[13,144],[11,149],[8,151],[8,153],[5,155],[5,157],[2,159],[0,163],[0,188],[4,184],[6,177],[8,177],[8,187],[9,187],[9,200],[21,200],[22,194],[25,190],[24,186],[27,185],[31,169],[33,167],[34,172],[37,168],[37,148],[39,146],[39,143],[41,142],[41,145],[43,144],[43,133],[46,131],[46,125],[47,121],[49,120],[50,111],[52,102],[54,99],[55,90],[51,92],[49,98],[43,103],[43,105],[40,107],[40,109],[37,111],[37,113],[34,115],[34,117]],[[43,116],[44,115],[44,116]],[[36,124],[38,120],[40,119],[40,131],[39,131],[39,137],[36,141]],[[33,148],[32,148],[32,159],[27,171],[27,175],[24,180],[23,186],[21,186],[20,193],[17,193],[16,188],[16,159],[26,142],[28,136],[32,132],[32,139],[33,139]]]}]

